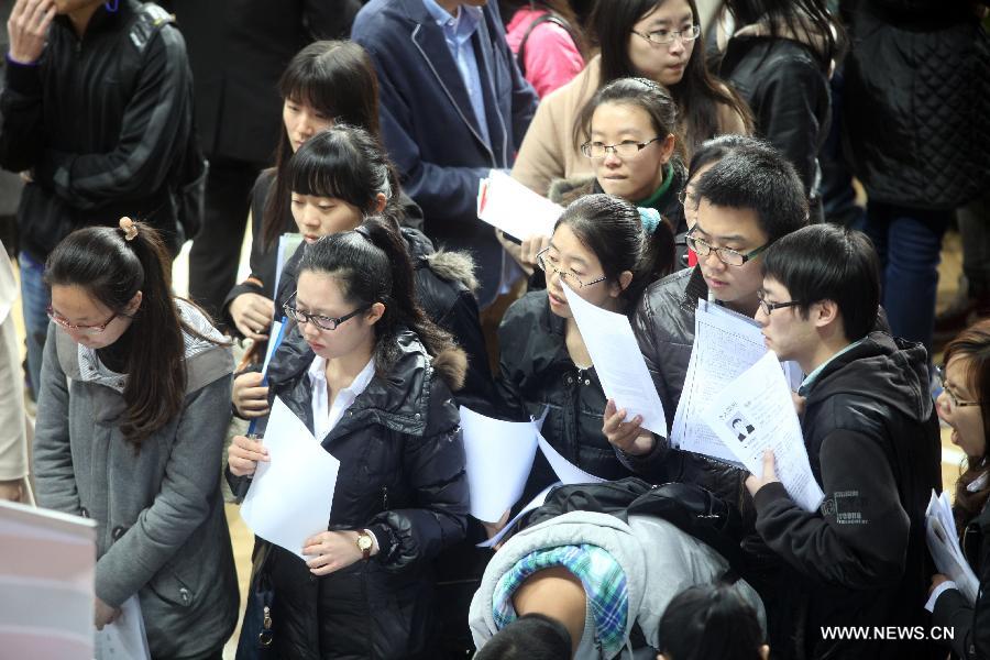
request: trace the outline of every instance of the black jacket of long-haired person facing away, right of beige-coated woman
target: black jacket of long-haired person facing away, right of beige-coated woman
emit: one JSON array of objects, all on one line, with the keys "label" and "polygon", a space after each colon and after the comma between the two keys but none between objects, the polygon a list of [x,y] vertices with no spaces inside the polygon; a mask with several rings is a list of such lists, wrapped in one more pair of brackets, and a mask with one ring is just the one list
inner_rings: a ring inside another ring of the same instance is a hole
[{"label": "black jacket of long-haired person facing away, right of beige-coated woman", "polygon": [[757,132],[798,169],[809,197],[817,197],[818,148],[832,113],[828,56],[810,23],[795,29],[781,25],[771,37],[766,21],[744,26],[729,40],[719,75],[749,103]]}]

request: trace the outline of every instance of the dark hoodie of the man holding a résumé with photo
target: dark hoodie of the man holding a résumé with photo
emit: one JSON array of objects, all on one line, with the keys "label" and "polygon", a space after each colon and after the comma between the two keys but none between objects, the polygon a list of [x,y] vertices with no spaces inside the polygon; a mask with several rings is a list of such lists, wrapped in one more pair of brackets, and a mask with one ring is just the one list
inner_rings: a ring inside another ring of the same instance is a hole
[{"label": "dark hoodie of the man holding a r\u00e9sum\u00e9 with photo", "polygon": [[[809,386],[802,431],[825,501],[805,512],[780,483],[754,497],[757,530],[793,569],[768,603],[770,616],[790,624],[778,626],[789,628],[785,637],[771,638],[776,657],[932,657],[923,641],[898,644],[872,630],[927,634],[922,605],[934,571],[924,515],[932,488],[942,490],[927,374],[921,344],[872,332]],[[821,626],[869,626],[871,638],[824,639]]]}]

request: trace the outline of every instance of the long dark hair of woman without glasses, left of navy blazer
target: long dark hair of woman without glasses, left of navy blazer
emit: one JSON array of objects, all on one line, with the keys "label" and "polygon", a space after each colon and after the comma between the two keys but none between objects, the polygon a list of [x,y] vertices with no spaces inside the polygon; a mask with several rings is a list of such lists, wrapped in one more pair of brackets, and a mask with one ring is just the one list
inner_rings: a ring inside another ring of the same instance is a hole
[{"label": "long dark hair of woman without glasses, left of navy blazer", "polygon": [[[378,78],[367,52],[350,41],[320,41],[309,44],[289,62],[278,91],[283,100],[305,102],[334,123],[348,123],[366,130],[381,140],[378,125]],[[262,240],[272,246],[284,231],[285,210],[290,190],[285,170],[293,157],[293,145],[285,127],[279,131],[275,152],[275,184],[265,204]],[[395,190],[396,196],[398,190]]]}]

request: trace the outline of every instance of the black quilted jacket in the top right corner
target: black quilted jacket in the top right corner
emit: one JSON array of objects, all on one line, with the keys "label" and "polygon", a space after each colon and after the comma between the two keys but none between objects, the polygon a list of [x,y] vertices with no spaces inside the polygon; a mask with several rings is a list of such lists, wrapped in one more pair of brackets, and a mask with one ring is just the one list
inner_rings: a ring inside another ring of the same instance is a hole
[{"label": "black quilted jacket in the top right corner", "polygon": [[955,209],[990,189],[990,36],[969,2],[846,0],[844,151],[870,199]]}]

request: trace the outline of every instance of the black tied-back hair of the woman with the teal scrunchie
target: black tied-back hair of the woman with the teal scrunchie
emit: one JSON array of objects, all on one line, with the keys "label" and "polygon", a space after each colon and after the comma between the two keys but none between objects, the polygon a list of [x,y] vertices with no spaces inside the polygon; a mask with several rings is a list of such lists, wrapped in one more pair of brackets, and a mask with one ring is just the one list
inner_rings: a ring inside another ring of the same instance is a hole
[{"label": "black tied-back hair of the woman with the teal scrunchie", "polygon": [[619,299],[630,314],[644,289],[668,275],[674,264],[674,235],[662,218],[651,232],[644,229],[639,210],[614,195],[585,195],[568,206],[553,230],[566,227],[598,258],[605,278],[618,283],[619,275],[632,273],[632,282]]}]

